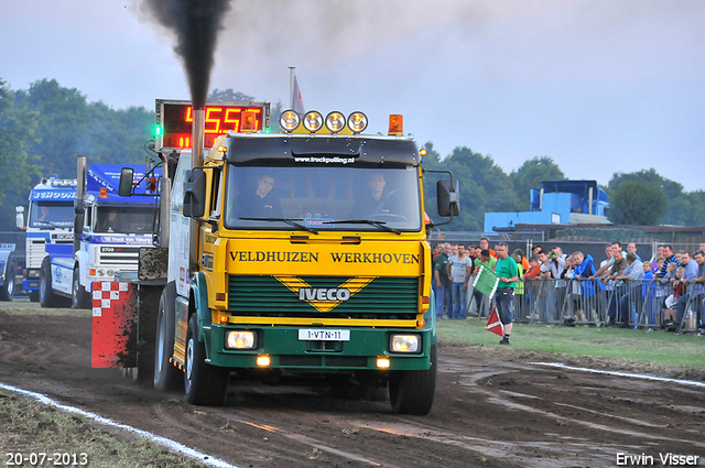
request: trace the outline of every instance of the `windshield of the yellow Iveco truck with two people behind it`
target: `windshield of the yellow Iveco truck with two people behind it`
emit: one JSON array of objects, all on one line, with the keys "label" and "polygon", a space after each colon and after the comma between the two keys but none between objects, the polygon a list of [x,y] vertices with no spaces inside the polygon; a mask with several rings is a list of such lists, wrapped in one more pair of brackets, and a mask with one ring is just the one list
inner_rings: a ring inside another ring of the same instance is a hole
[{"label": "windshield of the yellow Iveco truck with two people behind it", "polygon": [[414,166],[229,165],[225,226],[286,230],[295,221],[316,231],[419,231],[422,217],[416,171]]}]

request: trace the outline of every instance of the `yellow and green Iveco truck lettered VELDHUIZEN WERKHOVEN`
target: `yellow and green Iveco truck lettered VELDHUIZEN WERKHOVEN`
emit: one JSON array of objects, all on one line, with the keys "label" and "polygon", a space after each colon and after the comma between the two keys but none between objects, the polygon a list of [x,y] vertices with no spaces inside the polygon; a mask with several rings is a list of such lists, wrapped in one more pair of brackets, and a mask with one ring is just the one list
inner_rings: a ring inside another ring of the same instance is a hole
[{"label": "yellow and green Iveco truck lettered VELDHUIZEN WERKHOVEN", "polygon": [[[401,116],[381,135],[365,133],[362,112],[289,110],[273,133],[263,104],[156,108],[169,271],[155,389],[183,381],[187,402],[217,405],[231,379],[361,384],[388,388],[397,413],[427,414],[437,362],[423,152]],[[176,129],[191,121],[193,134]],[[124,168],[120,193],[133,182]],[[452,219],[457,181],[437,191]]]}]

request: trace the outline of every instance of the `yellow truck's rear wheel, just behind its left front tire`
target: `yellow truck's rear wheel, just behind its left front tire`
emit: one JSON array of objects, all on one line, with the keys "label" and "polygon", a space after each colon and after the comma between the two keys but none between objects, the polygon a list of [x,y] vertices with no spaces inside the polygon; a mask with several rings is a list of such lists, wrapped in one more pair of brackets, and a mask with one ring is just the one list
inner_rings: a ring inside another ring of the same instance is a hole
[{"label": "yellow truck's rear wheel, just behind its left front tire", "polygon": [[[172,307],[167,307],[167,304]],[[175,319],[173,301],[167,300],[164,291],[156,313],[156,340],[154,341],[154,390],[159,392],[175,390],[180,382],[183,382],[182,372],[170,362],[174,353]]]}]

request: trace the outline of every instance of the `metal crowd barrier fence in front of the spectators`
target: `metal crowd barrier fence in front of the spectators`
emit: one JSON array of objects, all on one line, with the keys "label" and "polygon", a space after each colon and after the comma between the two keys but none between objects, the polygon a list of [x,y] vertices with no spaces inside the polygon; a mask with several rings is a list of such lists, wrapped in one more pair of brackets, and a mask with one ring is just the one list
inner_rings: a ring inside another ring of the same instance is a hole
[{"label": "metal crowd barrier fence in front of the spectators", "polygon": [[[470,279],[471,285],[475,275]],[[668,280],[636,280],[603,284],[598,280],[529,279],[514,290],[513,316],[518,323],[661,328],[675,320],[679,297]],[[490,302],[471,286],[465,294],[469,316],[488,317]],[[681,331],[697,331],[703,322],[705,293],[691,285],[681,298]],[[451,308],[447,307],[446,314]],[[447,314],[446,316],[451,316]]]}]

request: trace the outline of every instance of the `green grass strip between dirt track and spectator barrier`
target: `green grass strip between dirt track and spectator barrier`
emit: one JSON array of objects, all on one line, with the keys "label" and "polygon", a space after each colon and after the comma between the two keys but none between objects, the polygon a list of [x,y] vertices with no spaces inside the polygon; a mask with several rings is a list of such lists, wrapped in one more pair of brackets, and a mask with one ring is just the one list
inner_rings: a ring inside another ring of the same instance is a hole
[{"label": "green grass strip between dirt track and spectator barrier", "polygon": [[[441,344],[500,346],[486,320],[438,320]],[[618,358],[660,366],[705,369],[705,337],[623,328],[514,324],[511,347],[565,355]]]}]

